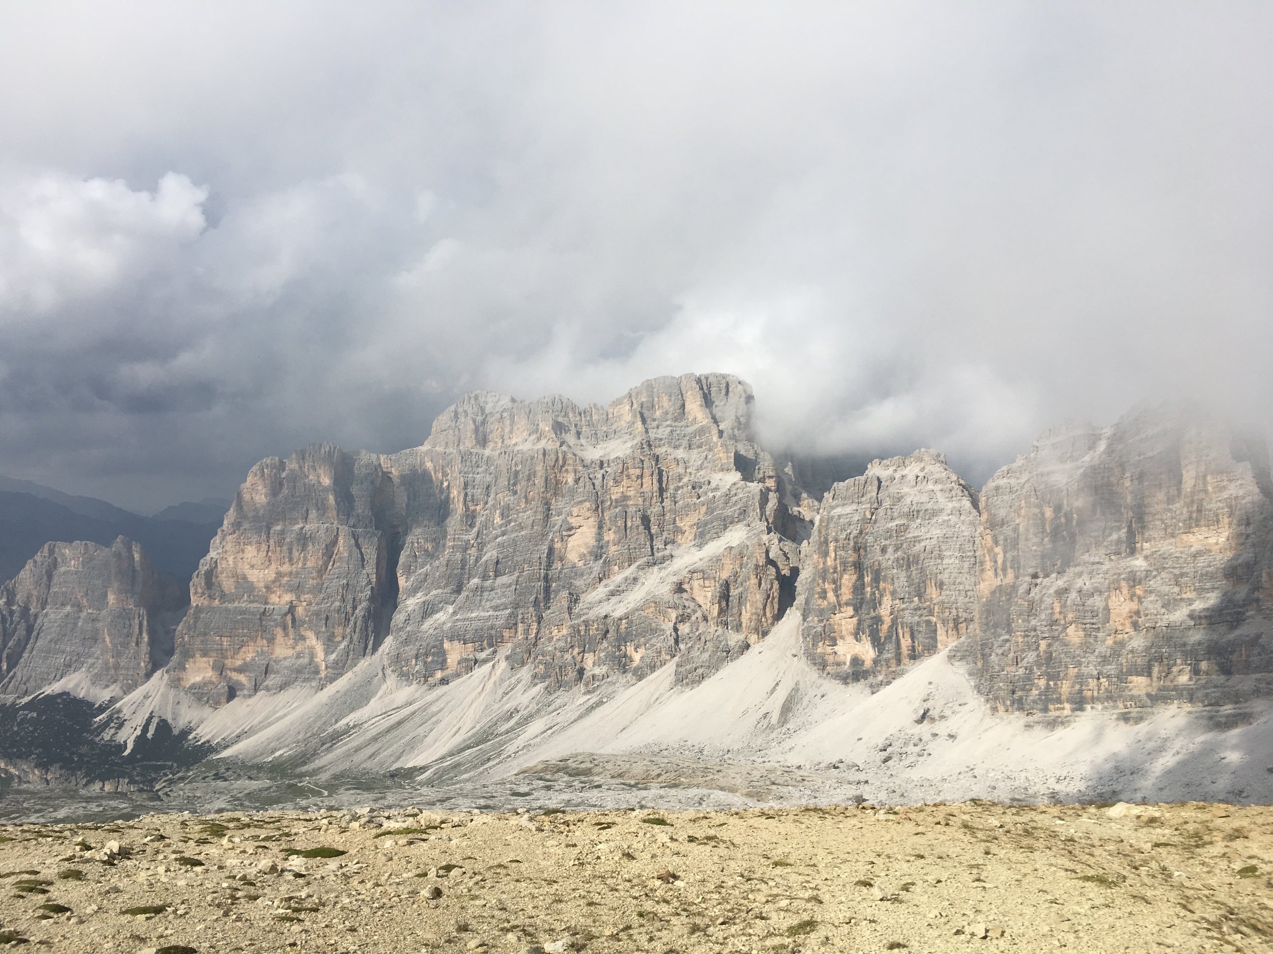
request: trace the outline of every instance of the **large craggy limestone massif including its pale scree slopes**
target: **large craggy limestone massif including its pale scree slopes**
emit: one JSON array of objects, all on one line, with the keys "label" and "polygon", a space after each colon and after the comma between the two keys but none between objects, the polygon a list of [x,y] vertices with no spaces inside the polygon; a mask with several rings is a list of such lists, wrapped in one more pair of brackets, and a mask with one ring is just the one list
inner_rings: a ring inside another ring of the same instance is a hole
[{"label": "large craggy limestone massif including its pale scree slopes", "polygon": [[747,763],[826,800],[1273,798],[1264,448],[1138,408],[980,491],[933,450],[827,486],[752,406],[719,374],[475,393],[411,450],[262,460],[171,660],[129,692],[148,670],[99,641],[61,687],[113,698],[109,744],[363,790],[622,798]]}]

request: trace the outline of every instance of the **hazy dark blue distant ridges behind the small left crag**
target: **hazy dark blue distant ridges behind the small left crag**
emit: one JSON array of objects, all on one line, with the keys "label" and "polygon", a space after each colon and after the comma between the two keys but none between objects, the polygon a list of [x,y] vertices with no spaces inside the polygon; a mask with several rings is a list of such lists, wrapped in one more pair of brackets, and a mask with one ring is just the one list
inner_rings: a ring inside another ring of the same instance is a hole
[{"label": "hazy dark blue distant ridges behind the small left crag", "polygon": [[[109,547],[121,536],[141,543],[162,572],[187,580],[220,523],[220,516],[205,523],[140,516],[103,500],[74,497],[8,477],[0,478],[0,487],[28,488],[0,490],[0,580],[17,576],[51,541]],[[200,513],[206,515],[206,508]]]}]

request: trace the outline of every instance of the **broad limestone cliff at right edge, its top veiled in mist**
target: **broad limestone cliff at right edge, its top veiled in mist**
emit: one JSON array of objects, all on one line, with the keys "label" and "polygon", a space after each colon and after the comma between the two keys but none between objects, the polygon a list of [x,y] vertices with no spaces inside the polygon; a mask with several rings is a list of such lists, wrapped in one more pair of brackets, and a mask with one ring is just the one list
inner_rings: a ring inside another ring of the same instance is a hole
[{"label": "broad limestone cliff at right edge, its top veiled in mist", "polygon": [[1218,703],[1273,689],[1267,450],[1184,408],[1045,434],[981,492],[976,639],[1001,709]]}]

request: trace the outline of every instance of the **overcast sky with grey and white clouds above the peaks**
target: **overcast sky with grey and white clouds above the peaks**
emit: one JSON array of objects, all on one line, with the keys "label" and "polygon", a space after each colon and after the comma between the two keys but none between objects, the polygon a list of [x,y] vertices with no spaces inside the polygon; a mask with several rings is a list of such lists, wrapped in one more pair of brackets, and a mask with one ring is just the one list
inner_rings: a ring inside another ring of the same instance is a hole
[{"label": "overcast sky with grey and white clouds above the peaks", "polygon": [[774,449],[1273,408],[1273,4],[0,6],[0,473],[144,511],[458,393]]}]

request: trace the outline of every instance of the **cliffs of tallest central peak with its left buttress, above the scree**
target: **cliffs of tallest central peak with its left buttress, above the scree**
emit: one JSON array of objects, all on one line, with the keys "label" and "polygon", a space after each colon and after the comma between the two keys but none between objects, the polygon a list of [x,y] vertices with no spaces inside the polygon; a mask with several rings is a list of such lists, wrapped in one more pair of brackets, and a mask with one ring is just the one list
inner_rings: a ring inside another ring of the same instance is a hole
[{"label": "cliffs of tallest central peak with its left buttress, above the scree", "polygon": [[728,375],[608,407],[475,393],[412,450],[264,460],[192,581],[169,678],[224,702],[379,650],[410,682],[499,653],[552,688],[672,659],[701,679],[794,597],[798,495],[751,404]]}]

